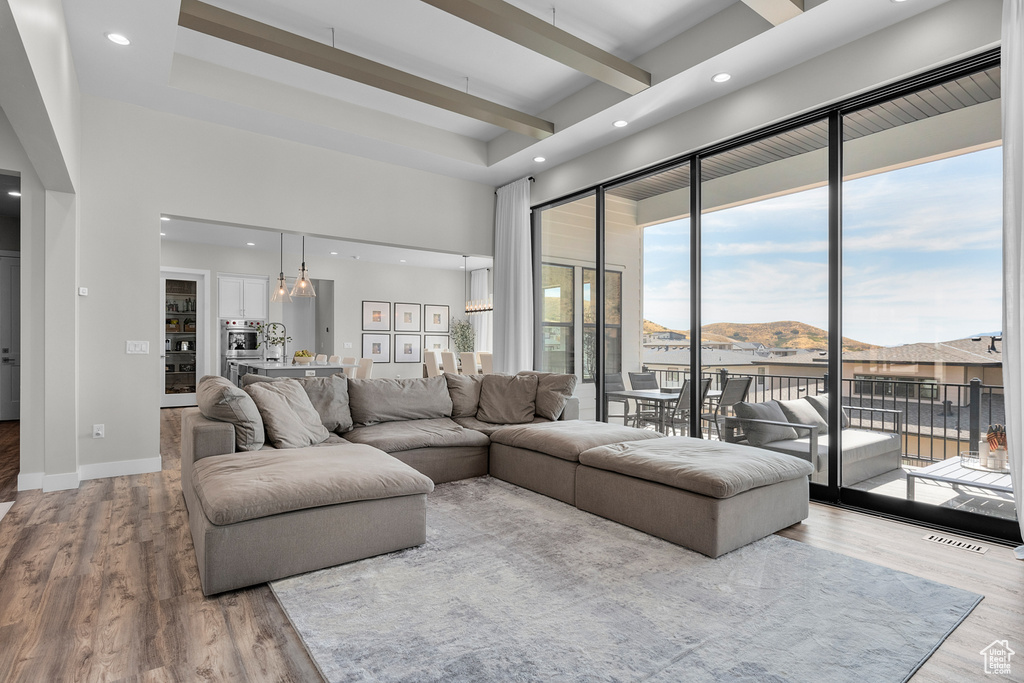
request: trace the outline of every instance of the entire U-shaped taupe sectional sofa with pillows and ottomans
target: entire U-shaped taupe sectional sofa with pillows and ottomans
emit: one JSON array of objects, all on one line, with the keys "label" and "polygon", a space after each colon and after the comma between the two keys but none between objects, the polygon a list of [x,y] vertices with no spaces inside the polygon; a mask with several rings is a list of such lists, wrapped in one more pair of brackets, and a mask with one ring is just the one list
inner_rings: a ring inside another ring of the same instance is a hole
[{"label": "entire U-shaped taupe sectional sofa with pillows and ottomans", "polygon": [[712,557],[807,516],[803,460],[581,422],[569,375],[244,384],[182,413],[207,595],[422,544],[434,483],[484,474]]}]

